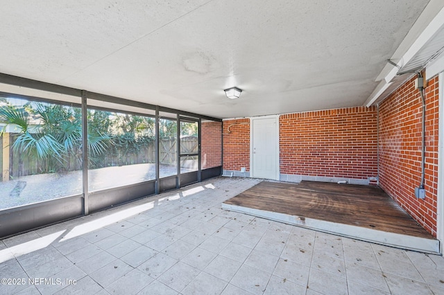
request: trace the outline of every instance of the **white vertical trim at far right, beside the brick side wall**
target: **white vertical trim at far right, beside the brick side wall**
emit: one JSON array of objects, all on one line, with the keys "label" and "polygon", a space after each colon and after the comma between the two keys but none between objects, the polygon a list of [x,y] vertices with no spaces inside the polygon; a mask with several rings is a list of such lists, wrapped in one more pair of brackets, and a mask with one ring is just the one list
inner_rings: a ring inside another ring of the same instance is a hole
[{"label": "white vertical trim at far right, beside the brick side wall", "polygon": [[436,200],[436,238],[443,253],[444,244],[444,72],[438,76],[438,194]]}]

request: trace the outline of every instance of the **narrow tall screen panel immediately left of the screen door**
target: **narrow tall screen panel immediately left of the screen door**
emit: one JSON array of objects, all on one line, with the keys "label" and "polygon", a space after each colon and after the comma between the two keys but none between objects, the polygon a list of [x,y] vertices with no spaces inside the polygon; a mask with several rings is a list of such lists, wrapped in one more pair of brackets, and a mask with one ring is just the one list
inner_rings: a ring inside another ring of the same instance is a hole
[{"label": "narrow tall screen panel immediately left of the screen door", "polygon": [[[173,117],[174,115],[171,115]],[[178,174],[178,123],[177,120],[159,119],[159,177]]]}]

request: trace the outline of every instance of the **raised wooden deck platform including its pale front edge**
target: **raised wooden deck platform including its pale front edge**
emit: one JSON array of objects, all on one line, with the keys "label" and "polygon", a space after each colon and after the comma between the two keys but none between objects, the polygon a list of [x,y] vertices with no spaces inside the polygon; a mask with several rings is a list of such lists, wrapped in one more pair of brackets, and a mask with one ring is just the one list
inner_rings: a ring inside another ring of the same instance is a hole
[{"label": "raised wooden deck platform including its pale front edge", "polygon": [[373,186],[262,181],[222,208],[392,247],[439,252],[439,241]]}]

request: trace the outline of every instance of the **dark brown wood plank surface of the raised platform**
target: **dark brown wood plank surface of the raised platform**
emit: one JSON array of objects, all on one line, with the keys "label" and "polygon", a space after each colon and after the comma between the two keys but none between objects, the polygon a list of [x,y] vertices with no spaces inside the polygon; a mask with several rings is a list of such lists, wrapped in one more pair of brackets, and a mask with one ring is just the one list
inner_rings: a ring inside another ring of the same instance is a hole
[{"label": "dark brown wood plank surface of the raised platform", "polygon": [[434,239],[384,190],[373,186],[262,181],[224,203]]}]

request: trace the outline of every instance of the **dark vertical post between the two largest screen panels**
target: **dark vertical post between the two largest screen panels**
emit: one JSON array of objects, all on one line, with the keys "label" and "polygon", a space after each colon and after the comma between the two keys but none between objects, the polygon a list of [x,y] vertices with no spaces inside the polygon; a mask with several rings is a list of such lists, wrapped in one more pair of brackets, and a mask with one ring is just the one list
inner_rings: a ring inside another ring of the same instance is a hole
[{"label": "dark vertical post between the two largest screen panels", "polygon": [[83,183],[83,214],[89,214],[88,199],[88,118],[87,91],[82,90],[82,183]]}]

